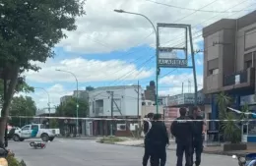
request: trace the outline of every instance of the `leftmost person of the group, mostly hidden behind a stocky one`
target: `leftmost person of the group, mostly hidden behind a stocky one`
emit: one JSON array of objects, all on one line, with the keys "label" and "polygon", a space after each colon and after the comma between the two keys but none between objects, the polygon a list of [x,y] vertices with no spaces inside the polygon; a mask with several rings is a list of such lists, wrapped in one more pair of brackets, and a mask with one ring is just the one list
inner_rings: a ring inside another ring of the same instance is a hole
[{"label": "leftmost person of the group, mostly hidden behind a stocky one", "polygon": [[144,156],[143,156],[143,162],[142,165],[143,166],[147,166],[148,165],[148,161],[150,158],[150,153],[151,153],[151,147],[150,147],[150,143],[149,143],[149,138],[147,137],[148,133],[150,132],[151,128],[152,128],[152,120],[154,117],[154,113],[149,113],[148,115],[145,116],[145,120],[143,122],[143,132],[145,135],[144,138]]}]

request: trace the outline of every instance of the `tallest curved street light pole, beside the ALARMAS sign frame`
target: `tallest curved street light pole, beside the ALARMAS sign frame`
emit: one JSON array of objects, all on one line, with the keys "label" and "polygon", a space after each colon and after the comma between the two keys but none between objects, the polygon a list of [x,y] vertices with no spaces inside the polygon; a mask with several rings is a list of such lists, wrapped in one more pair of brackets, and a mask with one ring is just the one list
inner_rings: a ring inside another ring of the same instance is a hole
[{"label": "tallest curved street light pole, beside the ALARMAS sign frame", "polygon": [[149,23],[151,24],[151,26],[154,28],[155,34],[156,34],[156,65],[157,65],[157,69],[156,69],[156,105],[157,105],[157,113],[159,113],[159,74],[160,74],[160,69],[159,69],[159,54],[158,54],[158,33],[157,33],[157,29],[155,28],[154,24],[152,23],[152,21],[146,17],[145,15],[139,14],[139,13],[133,13],[133,12],[126,12],[123,10],[114,10],[114,12],[117,13],[126,13],[126,14],[130,14],[130,15],[137,15],[137,16],[141,16],[143,18],[145,18],[147,21],[149,21]]}]

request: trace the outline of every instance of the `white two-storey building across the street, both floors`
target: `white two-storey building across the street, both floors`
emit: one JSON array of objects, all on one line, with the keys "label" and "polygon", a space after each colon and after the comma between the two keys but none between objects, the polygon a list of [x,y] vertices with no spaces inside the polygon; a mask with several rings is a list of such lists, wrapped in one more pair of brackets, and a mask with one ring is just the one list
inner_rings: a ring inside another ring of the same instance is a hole
[{"label": "white two-storey building across the street, both floors", "polygon": [[[142,92],[141,86],[138,91],[138,85],[104,86],[90,91],[90,117],[100,120],[88,124],[87,129],[93,131],[94,136],[109,136],[110,125],[113,123],[113,135],[131,136],[141,118]],[[111,118],[124,121],[106,120]]]}]

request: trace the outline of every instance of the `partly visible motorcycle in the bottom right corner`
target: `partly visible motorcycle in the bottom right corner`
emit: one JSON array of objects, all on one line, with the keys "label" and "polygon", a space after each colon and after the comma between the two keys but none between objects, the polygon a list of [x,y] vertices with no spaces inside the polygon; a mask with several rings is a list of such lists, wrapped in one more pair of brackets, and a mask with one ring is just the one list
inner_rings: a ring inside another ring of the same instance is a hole
[{"label": "partly visible motorcycle in the bottom right corner", "polygon": [[238,160],[239,166],[256,166],[256,153],[248,153],[245,156],[232,155],[232,158]]}]

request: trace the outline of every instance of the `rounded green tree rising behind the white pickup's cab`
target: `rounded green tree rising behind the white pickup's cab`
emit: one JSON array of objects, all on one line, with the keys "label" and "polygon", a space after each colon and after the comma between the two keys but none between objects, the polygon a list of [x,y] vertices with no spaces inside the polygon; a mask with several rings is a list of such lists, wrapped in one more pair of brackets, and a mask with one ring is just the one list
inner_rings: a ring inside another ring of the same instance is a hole
[{"label": "rounded green tree rising behind the white pickup's cab", "polygon": [[10,106],[10,115],[13,116],[13,118],[10,120],[10,124],[19,127],[27,125],[32,121],[32,118],[18,118],[18,116],[32,117],[35,115],[35,112],[36,106],[32,100],[32,97],[24,97],[22,95],[14,97]]}]

